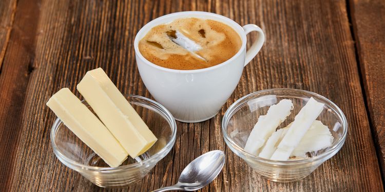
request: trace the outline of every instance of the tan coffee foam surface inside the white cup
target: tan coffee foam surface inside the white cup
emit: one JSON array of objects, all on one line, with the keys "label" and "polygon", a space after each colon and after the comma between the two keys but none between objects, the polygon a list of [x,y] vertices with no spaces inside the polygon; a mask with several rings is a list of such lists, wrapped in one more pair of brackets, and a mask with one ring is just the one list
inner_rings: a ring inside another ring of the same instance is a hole
[{"label": "tan coffee foam surface inside the white cup", "polygon": [[[172,41],[170,31],[182,33],[200,49],[194,49],[194,53],[191,53]],[[153,27],[139,41],[139,51],[147,60],[161,67],[178,70],[218,65],[233,57],[240,47],[241,38],[234,29],[215,20],[200,18],[181,18]]]}]

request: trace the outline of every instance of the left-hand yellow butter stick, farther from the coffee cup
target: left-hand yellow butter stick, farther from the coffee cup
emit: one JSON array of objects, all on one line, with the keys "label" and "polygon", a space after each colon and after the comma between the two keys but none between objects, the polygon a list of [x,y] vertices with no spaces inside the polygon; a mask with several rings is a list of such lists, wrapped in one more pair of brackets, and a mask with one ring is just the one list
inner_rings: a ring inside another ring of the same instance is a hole
[{"label": "left-hand yellow butter stick, farther from the coffee cup", "polygon": [[128,154],[122,145],[68,88],[55,93],[47,106],[109,166],[117,167],[127,159]]}]

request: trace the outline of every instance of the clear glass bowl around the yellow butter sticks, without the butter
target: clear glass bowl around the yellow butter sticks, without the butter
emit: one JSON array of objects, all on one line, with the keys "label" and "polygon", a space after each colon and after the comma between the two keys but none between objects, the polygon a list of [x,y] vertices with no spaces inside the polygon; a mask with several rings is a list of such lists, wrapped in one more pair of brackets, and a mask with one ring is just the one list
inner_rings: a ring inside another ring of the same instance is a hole
[{"label": "clear glass bowl around the yellow butter sticks, without the butter", "polygon": [[[170,152],[175,143],[177,125],[166,108],[145,97],[127,95],[126,98],[158,141],[139,158],[128,156],[119,167],[109,167],[59,118],[52,125],[51,143],[57,159],[100,187],[119,188],[141,180]],[[86,101],[82,102],[92,111]]]}]

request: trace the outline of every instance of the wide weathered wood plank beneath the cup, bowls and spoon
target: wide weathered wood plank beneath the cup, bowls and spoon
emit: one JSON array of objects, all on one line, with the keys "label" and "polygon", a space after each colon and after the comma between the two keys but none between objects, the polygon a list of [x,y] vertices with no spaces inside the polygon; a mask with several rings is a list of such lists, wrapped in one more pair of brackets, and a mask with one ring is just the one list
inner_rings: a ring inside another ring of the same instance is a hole
[{"label": "wide weathered wood plank beneath the cup, bowls and spoon", "polygon": [[[91,184],[55,158],[49,141],[54,115],[45,102],[63,87],[79,96],[76,83],[86,71],[97,67],[105,69],[123,93],[150,97],[135,64],[134,35],[153,18],[187,10],[216,12],[241,25],[257,24],[266,33],[265,45],[245,68],[220,114],[202,123],[178,122],[177,141],[170,154],[142,181],[123,191],[148,191],[176,183],[185,165],[216,149],[226,152],[226,165],[218,179],[202,191],[383,190],[344,1],[43,0],[40,7],[40,16],[30,18],[37,21],[31,65],[35,70],[25,77],[29,80],[22,89],[25,95],[12,102],[22,106],[16,109],[19,116],[7,116],[20,119],[13,118],[7,124],[0,121],[4,133],[18,130],[19,135],[18,139],[9,139],[16,143],[9,145],[15,147],[12,150],[16,155],[5,157],[14,161],[7,172],[10,190],[107,190]],[[4,69],[10,68],[9,63],[4,62]],[[8,81],[6,84],[13,86]],[[350,124],[340,153],[314,174],[292,183],[269,182],[253,172],[225,146],[220,129],[222,115],[236,99],[280,87],[310,90],[330,98]],[[4,154],[0,151],[2,157]]]}]

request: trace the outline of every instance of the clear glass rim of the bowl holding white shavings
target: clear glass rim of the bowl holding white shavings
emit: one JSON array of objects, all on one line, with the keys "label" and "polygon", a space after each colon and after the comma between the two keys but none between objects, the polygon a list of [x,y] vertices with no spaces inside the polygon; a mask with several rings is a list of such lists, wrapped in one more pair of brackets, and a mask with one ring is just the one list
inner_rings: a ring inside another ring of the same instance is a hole
[{"label": "clear glass rim of the bowl holding white shavings", "polygon": [[[233,115],[234,115],[233,112],[234,112],[234,110],[237,109],[237,106],[240,105],[240,103],[243,104],[242,101],[247,101],[247,98],[251,97],[251,96],[255,96],[255,95],[258,95],[261,93],[266,93],[266,92],[275,92],[275,91],[295,91],[295,92],[298,91],[298,92],[302,92],[305,94],[310,94],[312,96],[321,98],[324,101],[326,101],[325,104],[329,104],[331,106],[331,110],[336,112],[336,114],[338,115],[338,117],[340,118],[340,120],[342,122],[341,125],[343,128],[343,133],[342,133],[342,136],[339,139],[339,141],[336,144],[332,145],[327,151],[323,152],[320,155],[317,155],[317,156],[311,157],[311,158],[290,160],[290,161],[277,161],[277,160],[265,159],[265,158],[261,158],[261,157],[249,154],[246,151],[244,151],[243,147],[240,147],[238,144],[236,144],[228,136],[225,126],[227,126],[229,119],[231,119],[233,117]],[[229,108],[226,110],[225,114],[223,115],[221,129],[222,129],[223,138],[224,138],[226,144],[228,145],[228,147],[230,148],[230,150],[232,150],[236,155],[240,156],[241,158],[243,158],[243,159],[247,158],[247,159],[251,159],[253,161],[258,161],[258,162],[272,164],[272,165],[282,165],[282,166],[290,165],[290,166],[292,166],[292,165],[296,165],[296,164],[305,164],[305,163],[311,163],[311,162],[315,162],[318,160],[322,160],[323,158],[328,157],[329,155],[333,154],[334,152],[338,152],[338,150],[344,144],[345,138],[347,137],[347,134],[348,134],[348,121],[347,121],[345,115],[343,114],[342,110],[334,102],[332,102],[331,100],[329,100],[328,98],[326,98],[322,95],[319,95],[319,94],[314,93],[314,92],[306,91],[306,90],[290,89],[290,88],[276,88],[276,89],[266,89],[266,90],[256,91],[256,92],[250,93],[248,95],[245,95],[245,96],[239,98],[237,101],[235,101],[232,105],[229,106]]]}]

